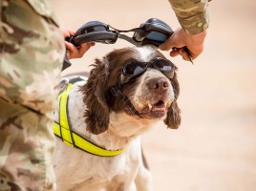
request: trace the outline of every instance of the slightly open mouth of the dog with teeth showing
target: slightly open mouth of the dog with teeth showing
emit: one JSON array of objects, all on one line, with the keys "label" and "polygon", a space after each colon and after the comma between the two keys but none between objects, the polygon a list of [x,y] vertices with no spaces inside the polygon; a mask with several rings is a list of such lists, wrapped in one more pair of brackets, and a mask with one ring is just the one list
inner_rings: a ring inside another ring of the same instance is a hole
[{"label": "slightly open mouth of the dog with teeth showing", "polygon": [[[143,109],[138,109],[138,112],[141,117],[146,118],[164,117],[167,112],[166,105],[167,104],[164,101],[159,100],[155,103],[147,103]],[[126,111],[131,115],[131,110],[129,108],[126,108]]]}]

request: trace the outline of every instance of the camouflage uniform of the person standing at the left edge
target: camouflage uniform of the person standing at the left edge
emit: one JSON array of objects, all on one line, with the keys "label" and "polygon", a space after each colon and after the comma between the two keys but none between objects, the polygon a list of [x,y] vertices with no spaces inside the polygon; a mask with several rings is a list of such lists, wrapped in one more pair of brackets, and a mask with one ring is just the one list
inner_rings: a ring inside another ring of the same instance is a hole
[{"label": "camouflage uniform of the person standing at the left edge", "polygon": [[0,0],[0,191],[54,190],[51,126],[64,53],[51,1]]}]

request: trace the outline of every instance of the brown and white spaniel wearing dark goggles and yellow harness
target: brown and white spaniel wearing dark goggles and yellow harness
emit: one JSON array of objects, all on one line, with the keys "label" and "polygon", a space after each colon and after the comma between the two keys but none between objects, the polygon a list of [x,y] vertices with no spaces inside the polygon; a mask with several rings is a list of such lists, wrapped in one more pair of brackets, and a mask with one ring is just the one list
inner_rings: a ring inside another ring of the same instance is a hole
[{"label": "brown and white spaniel wearing dark goggles and yellow harness", "polygon": [[[114,156],[98,156],[57,138],[57,190],[153,190],[139,136],[160,120],[168,128],[180,126],[178,69],[150,46],[114,50],[92,66],[89,77],[76,81],[68,94],[68,132]],[[54,113],[57,124],[60,110]]]}]

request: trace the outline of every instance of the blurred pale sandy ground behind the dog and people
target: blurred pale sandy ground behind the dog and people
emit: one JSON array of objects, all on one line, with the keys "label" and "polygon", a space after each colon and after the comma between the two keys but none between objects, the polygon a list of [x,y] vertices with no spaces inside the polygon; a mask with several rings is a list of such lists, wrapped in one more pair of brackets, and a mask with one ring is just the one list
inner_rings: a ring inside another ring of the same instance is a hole
[{"label": "blurred pale sandy ground behind the dog and people", "polygon": [[[167,0],[54,5],[60,25],[70,29],[99,20],[126,30],[151,17],[179,27]],[[212,1],[209,11],[205,50],[195,65],[171,58],[179,67],[180,129],[160,123],[142,137],[158,191],[256,190],[256,1]],[[98,44],[64,74],[88,71],[96,57],[126,46]]]}]

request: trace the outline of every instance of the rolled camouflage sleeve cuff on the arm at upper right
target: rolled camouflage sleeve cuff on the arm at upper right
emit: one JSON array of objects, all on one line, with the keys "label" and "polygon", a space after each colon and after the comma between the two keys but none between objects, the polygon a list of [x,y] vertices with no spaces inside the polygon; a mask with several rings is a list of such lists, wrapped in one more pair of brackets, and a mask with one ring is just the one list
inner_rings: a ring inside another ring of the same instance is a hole
[{"label": "rolled camouflage sleeve cuff on the arm at upper right", "polygon": [[169,0],[185,32],[196,34],[209,25],[208,0]]}]

